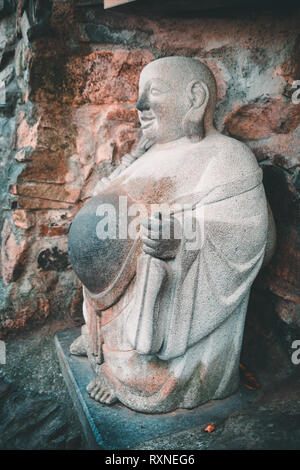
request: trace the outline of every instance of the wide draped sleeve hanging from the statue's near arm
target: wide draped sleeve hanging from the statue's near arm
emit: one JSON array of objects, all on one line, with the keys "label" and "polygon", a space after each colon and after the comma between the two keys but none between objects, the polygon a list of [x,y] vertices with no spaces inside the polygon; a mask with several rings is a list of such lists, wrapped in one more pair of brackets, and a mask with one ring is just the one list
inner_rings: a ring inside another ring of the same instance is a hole
[{"label": "wide draped sleeve hanging from the statue's near arm", "polygon": [[[211,333],[243,304],[261,267],[266,246],[267,211],[266,205],[257,211],[253,204],[258,195],[264,198],[259,168],[208,194],[180,198],[188,207],[185,216],[198,220],[199,231],[202,226],[202,246],[188,250],[187,244],[191,242],[183,238],[174,261],[144,255],[149,266],[147,272],[138,269],[136,281],[137,297],[141,291],[144,303],[135,304],[127,322],[128,337],[138,352],[155,353],[163,360],[183,355],[188,347]],[[172,201],[171,207],[175,202],[178,200]],[[238,222],[236,214],[231,212],[237,203],[240,206]],[[153,299],[153,294],[145,295],[145,286],[153,290],[158,282],[165,282],[161,272],[163,269],[167,272],[166,263],[170,265],[172,279],[165,289],[158,285],[157,298]],[[141,279],[142,276],[146,276],[146,280]],[[142,283],[140,289],[139,283]],[[163,312],[163,318],[159,318],[158,310]],[[148,317],[147,321],[144,316]],[[165,328],[163,335],[162,328]]]}]

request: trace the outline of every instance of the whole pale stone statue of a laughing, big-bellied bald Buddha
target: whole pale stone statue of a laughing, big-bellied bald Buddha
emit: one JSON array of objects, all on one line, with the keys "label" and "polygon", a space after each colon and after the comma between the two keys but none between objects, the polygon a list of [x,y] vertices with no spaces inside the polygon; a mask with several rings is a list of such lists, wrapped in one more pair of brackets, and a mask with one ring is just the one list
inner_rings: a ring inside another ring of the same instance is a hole
[{"label": "whole pale stone statue of a laughing, big-bellied bald Buddha", "polygon": [[[216,97],[198,60],[148,64],[136,104],[140,143],[71,226],[85,325],[70,350],[88,356],[95,378],[87,391],[100,403],[166,413],[239,386],[249,293],[275,227],[253,153],[214,127]],[[136,236],[113,229],[101,237],[101,207],[109,212],[120,198],[127,213],[119,206],[106,226],[120,229],[138,206]]]}]

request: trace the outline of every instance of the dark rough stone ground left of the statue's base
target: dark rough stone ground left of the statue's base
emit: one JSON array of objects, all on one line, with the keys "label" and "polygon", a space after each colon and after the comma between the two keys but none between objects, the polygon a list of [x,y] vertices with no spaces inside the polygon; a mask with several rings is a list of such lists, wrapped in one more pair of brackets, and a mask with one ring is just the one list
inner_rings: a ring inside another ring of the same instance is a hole
[{"label": "dark rough stone ground left of the statue's base", "polygon": [[10,339],[6,350],[7,363],[0,373],[0,448],[84,448],[55,357],[51,328]]}]

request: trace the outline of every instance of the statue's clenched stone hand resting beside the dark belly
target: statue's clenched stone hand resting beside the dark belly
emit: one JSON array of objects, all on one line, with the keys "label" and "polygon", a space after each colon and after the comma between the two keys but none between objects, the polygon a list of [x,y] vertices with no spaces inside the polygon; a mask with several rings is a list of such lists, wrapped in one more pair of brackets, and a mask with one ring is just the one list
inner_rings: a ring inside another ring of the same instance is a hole
[{"label": "statue's clenched stone hand resting beside the dark belly", "polygon": [[172,215],[154,214],[141,225],[143,251],[154,258],[175,258],[180,245],[180,222]]}]

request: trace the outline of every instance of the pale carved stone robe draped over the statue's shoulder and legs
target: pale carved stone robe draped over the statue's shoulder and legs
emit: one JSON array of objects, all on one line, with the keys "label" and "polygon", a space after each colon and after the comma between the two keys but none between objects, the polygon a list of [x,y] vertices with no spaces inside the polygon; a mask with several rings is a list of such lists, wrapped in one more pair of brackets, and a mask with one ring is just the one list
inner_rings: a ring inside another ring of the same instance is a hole
[{"label": "pale carved stone robe draped over the statue's shoulder and legs", "polygon": [[105,311],[85,290],[93,353],[103,361],[97,372],[122,403],[143,412],[230,395],[269,224],[254,155],[218,133],[198,143],[183,138],[151,147],[119,184],[139,202],[185,204],[200,243],[193,247],[184,234],[168,261],[141,253],[125,294]]}]

